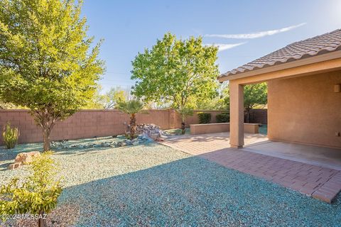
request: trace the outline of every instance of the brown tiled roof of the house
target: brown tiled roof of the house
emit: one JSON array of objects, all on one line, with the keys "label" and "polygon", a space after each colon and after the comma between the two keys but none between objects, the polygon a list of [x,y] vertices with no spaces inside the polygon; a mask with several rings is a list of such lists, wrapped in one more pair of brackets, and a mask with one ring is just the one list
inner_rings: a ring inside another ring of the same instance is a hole
[{"label": "brown tiled roof of the house", "polygon": [[264,67],[279,65],[286,62],[293,62],[307,57],[323,55],[328,52],[341,50],[341,29],[337,29],[330,33],[318,35],[313,38],[301,40],[287,45],[285,48],[271,52],[269,55],[260,57],[249,62],[237,69],[221,74],[219,78],[259,70]]}]

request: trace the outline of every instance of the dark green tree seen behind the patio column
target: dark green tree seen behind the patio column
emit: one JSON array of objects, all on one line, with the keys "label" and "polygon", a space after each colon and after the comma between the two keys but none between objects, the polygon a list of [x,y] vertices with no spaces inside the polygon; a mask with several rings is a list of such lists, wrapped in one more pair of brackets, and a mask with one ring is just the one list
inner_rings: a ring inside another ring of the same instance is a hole
[{"label": "dark green tree seen behind the patio column", "polygon": [[[229,88],[224,90],[224,103],[229,106]],[[244,111],[246,115],[246,122],[250,120],[250,111],[256,106],[263,107],[266,105],[268,99],[267,85],[249,84],[244,86]]]}]

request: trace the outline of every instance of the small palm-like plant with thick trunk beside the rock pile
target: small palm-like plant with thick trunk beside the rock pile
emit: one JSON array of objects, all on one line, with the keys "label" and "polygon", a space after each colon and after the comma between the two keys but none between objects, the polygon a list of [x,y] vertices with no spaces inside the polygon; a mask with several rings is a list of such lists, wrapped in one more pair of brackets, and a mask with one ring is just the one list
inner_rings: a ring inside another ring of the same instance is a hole
[{"label": "small palm-like plant with thick trunk beside the rock pile", "polygon": [[136,114],[144,109],[144,103],[137,99],[131,99],[129,101],[120,101],[116,107],[120,111],[130,114],[130,138],[136,138]]}]

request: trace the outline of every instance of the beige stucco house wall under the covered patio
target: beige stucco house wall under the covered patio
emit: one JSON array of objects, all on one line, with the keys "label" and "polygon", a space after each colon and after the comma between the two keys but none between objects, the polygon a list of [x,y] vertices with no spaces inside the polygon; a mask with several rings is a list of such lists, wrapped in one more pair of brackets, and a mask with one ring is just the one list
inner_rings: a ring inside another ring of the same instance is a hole
[{"label": "beige stucco house wall under the covered patio", "polygon": [[268,82],[268,137],[341,148],[341,71]]}]

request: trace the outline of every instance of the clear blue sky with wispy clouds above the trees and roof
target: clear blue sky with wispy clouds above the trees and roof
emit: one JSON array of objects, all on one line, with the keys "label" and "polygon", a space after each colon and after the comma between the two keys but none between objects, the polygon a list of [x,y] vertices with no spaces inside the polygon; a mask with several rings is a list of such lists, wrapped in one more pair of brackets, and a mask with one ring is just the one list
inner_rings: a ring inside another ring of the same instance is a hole
[{"label": "clear blue sky with wispy clouds above the trees and roof", "polygon": [[104,39],[102,92],[131,87],[131,61],[167,32],[219,46],[221,73],[284,46],[341,28],[341,0],[84,0],[95,42]]}]

